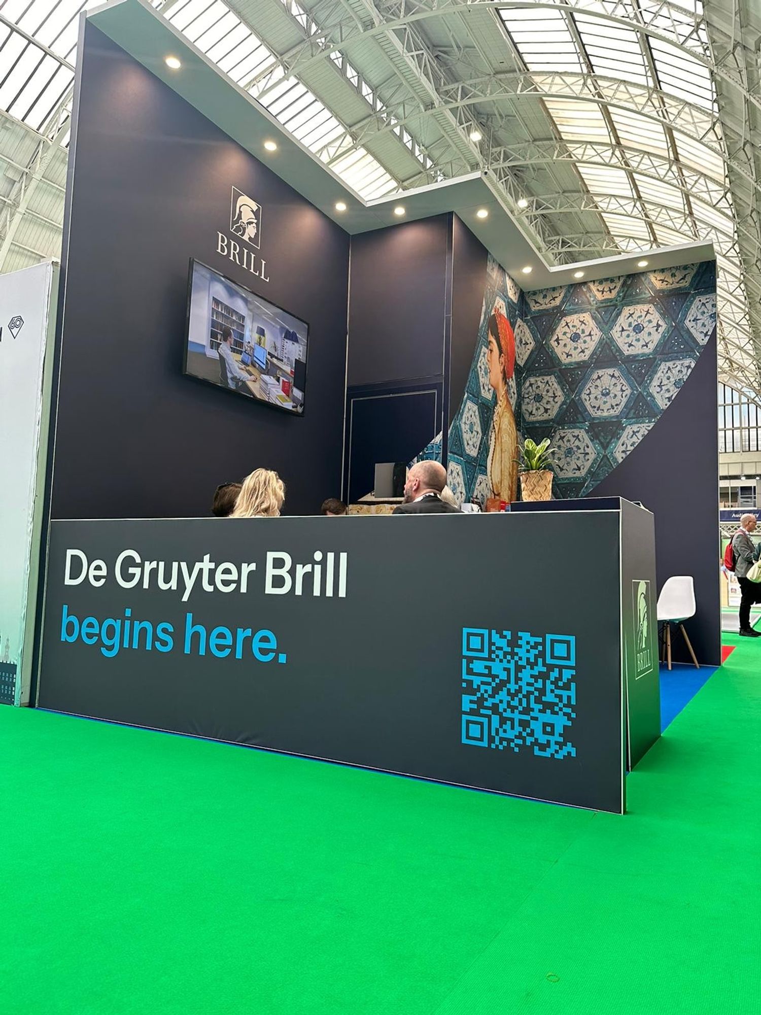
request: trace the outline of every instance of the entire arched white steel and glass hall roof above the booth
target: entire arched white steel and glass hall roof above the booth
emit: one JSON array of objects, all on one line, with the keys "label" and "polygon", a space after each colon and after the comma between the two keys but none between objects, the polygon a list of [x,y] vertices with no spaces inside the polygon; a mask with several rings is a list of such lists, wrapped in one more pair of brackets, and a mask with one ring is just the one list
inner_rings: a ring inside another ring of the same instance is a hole
[{"label": "entire arched white steel and glass hall roof above the booth", "polygon": [[[0,0],[0,270],[60,251],[81,0]],[[761,396],[757,0],[155,0],[365,201],[488,171],[552,265],[712,242]]]}]

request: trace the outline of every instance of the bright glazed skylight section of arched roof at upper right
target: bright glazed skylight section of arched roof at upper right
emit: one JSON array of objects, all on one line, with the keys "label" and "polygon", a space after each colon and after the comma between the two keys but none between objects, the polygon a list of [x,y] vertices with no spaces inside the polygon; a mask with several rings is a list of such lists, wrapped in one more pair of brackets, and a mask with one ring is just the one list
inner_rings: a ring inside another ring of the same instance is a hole
[{"label": "bright glazed skylight section of arched roof at upper right", "polygon": [[[590,164],[583,150],[575,163],[610,238],[623,251],[712,241],[720,352],[752,366],[738,223],[716,92],[705,66],[708,41],[704,30],[694,30],[689,14],[702,15],[701,0],[665,0],[646,8],[638,0],[589,0],[572,12],[568,5],[553,10],[544,3],[539,7],[528,0],[525,6],[500,9],[499,17],[547,96],[544,105],[558,136],[615,152],[616,164]],[[632,25],[641,25],[645,9],[660,11],[649,21],[651,28],[676,33],[682,45],[618,20],[628,15]],[[579,97],[565,98],[559,94],[563,91]],[[643,151],[659,156],[646,173],[638,158],[630,157]]]}]

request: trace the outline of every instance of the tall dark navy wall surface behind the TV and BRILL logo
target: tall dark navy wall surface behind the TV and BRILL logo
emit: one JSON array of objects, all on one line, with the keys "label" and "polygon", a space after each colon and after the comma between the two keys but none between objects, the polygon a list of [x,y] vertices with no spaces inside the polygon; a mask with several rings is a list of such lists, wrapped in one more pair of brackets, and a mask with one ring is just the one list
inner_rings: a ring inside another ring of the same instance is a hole
[{"label": "tall dark navy wall surface behind the TV and BRILL logo", "polygon": [[[205,515],[258,466],[286,513],[341,484],[349,240],[92,25],[71,162],[52,515]],[[217,253],[231,189],[262,205],[269,281]],[[303,418],[182,375],[191,257],[309,324]]]}]

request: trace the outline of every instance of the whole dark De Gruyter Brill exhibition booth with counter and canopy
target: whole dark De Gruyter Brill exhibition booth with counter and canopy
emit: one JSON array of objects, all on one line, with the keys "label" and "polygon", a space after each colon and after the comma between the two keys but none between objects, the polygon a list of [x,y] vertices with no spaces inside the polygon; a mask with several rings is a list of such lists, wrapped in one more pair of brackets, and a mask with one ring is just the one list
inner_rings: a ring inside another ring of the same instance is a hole
[{"label": "whole dark De Gruyter Brill exhibition booth with counter and canopy", "polygon": [[[548,267],[486,174],[367,204],[141,0],[83,16],[71,148],[32,700],[623,812],[669,577],[720,662],[710,245]],[[422,459],[511,510],[362,517]],[[257,467],[288,517],[208,518]]]}]

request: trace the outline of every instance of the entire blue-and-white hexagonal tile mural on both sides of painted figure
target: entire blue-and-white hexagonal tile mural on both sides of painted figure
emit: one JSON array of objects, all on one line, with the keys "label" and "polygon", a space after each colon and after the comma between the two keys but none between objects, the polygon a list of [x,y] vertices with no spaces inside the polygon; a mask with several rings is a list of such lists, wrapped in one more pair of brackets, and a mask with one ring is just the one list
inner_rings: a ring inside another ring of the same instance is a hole
[{"label": "entire blue-and-white hexagonal tile mural on both sides of painted figure", "polygon": [[[582,496],[636,448],[715,333],[715,264],[524,293],[489,258],[478,343],[449,427],[447,462],[458,499],[482,503],[492,492],[487,459],[495,397],[486,328],[495,311],[515,335],[509,397],[518,429],[535,441],[552,439],[554,495]],[[440,433],[419,458],[440,460]]]}]

